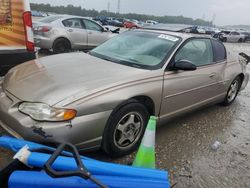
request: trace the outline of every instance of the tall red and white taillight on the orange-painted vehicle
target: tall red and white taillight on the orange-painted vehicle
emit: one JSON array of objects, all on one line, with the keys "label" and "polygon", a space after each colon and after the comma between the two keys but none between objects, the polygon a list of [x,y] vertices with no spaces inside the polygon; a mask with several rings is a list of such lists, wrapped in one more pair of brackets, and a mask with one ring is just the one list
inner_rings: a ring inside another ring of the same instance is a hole
[{"label": "tall red and white taillight on the orange-painted vehicle", "polygon": [[28,51],[34,52],[35,45],[34,45],[34,36],[32,31],[32,19],[30,11],[23,13],[23,23],[25,31],[26,48]]}]

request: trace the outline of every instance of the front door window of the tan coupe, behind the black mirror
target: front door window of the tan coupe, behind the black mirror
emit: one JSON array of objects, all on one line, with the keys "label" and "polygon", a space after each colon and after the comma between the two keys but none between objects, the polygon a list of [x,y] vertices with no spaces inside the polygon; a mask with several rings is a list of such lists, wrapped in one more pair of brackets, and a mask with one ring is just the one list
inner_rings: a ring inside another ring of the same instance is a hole
[{"label": "front door window of the tan coupe, behind the black mirror", "polygon": [[191,39],[175,55],[175,62],[191,61],[197,67],[213,63],[213,49],[210,39]]}]

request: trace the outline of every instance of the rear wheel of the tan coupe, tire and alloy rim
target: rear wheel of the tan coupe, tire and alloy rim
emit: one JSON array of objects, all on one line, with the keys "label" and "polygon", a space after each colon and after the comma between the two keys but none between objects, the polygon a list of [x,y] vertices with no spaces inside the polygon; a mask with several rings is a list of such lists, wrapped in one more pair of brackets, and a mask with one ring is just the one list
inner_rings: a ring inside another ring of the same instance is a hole
[{"label": "rear wheel of the tan coupe, tire and alloy rim", "polygon": [[230,84],[229,89],[227,91],[227,95],[222,103],[224,106],[229,106],[230,104],[232,104],[235,101],[235,99],[240,91],[241,83],[242,83],[242,80],[240,79],[240,77],[236,77],[232,81],[232,83]]}]

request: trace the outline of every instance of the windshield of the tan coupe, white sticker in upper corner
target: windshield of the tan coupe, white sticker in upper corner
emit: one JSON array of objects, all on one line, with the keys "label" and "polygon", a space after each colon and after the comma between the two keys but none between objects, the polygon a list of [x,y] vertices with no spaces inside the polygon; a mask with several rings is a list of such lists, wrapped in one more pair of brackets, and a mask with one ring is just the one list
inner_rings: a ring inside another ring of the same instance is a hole
[{"label": "windshield of the tan coupe, white sticker in upper corner", "polygon": [[128,31],[95,48],[90,55],[128,66],[157,69],[179,41],[179,37],[172,35]]}]

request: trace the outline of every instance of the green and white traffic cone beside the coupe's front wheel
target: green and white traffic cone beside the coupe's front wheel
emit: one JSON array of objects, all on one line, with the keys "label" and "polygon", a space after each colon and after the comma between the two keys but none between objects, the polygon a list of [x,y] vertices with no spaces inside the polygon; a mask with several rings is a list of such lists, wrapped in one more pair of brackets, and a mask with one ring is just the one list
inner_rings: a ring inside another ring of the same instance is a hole
[{"label": "green and white traffic cone beside the coupe's front wheel", "polygon": [[155,168],[155,130],[156,117],[150,116],[141,145],[133,162],[133,166]]}]

